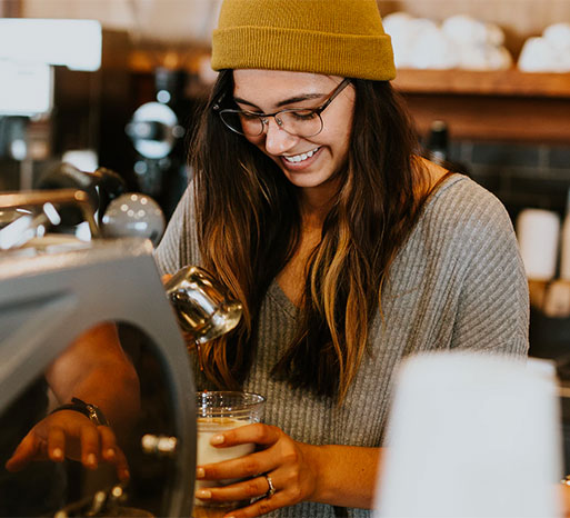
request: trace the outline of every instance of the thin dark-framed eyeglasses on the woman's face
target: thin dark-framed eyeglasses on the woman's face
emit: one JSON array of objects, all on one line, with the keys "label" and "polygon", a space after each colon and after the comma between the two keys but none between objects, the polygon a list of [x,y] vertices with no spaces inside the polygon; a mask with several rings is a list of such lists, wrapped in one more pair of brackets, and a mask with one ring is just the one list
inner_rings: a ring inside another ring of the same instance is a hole
[{"label": "thin dark-framed eyeglasses on the woman's face", "polygon": [[321,113],[349,83],[350,79],[344,79],[318,108],[289,108],[274,113],[257,113],[249,110],[220,110],[218,102],[213,106],[213,110],[218,111],[220,119],[230,130],[244,137],[259,137],[269,124],[270,117],[276,119],[279,128],[290,135],[314,137],[322,131]]}]

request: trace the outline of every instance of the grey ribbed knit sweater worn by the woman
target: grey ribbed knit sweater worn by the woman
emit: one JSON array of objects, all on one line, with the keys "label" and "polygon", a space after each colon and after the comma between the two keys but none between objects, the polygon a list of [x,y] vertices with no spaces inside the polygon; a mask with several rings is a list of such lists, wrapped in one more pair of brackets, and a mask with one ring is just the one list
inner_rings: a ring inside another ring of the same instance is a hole
[{"label": "grey ribbed knit sweater worn by the woman", "polygon": [[[200,263],[189,191],[156,258],[162,273]],[[526,353],[527,279],[511,221],[499,200],[466,177],[448,178],[427,201],[396,258],[382,305],[383,320],[378,315],[371,326],[372,353],[338,408],[327,398],[271,378],[296,325],[296,307],[273,281],[261,308],[259,351],[244,387],[267,397],[264,422],[303,442],[381,446],[391,380],[402,357],[452,348]],[[350,517],[369,515],[348,509]],[[334,509],[304,502],[271,516],[324,518],[334,517]]]}]

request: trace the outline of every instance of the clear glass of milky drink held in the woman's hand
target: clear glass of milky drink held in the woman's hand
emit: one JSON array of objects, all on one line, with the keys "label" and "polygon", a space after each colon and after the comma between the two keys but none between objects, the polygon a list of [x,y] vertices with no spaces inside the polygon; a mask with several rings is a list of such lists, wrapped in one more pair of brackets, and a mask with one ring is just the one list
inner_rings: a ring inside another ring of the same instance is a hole
[{"label": "clear glass of milky drink held in the woman's hand", "polygon": [[[256,448],[254,444],[216,448],[210,445],[210,439],[226,430],[259,422],[264,402],[266,398],[258,394],[239,391],[197,392],[197,465],[221,462],[251,454]],[[197,480],[194,491],[207,487],[224,486],[234,481],[237,480]],[[241,501],[208,502],[194,498],[193,518],[222,517],[231,509],[243,505]]]}]

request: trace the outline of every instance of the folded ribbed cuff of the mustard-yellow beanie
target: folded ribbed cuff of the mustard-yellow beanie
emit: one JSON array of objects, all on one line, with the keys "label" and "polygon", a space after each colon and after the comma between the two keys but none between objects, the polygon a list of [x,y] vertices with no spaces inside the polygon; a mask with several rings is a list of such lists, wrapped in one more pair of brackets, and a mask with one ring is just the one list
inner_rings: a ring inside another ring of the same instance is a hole
[{"label": "folded ribbed cuff of the mustard-yellow beanie", "polygon": [[289,70],[377,81],[396,78],[388,34],[336,34],[271,27],[214,30],[212,69]]}]

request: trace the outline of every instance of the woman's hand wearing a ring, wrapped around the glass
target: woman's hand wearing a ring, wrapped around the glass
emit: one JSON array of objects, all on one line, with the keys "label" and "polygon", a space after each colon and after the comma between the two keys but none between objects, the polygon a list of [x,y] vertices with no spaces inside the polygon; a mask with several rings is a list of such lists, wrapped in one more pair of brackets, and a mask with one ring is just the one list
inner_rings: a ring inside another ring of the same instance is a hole
[{"label": "woman's hand wearing a ring, wrapped around the glass", "polygon": [[[318,486],[316,446],[291,439],[269,425],[247,425],[214,436],[210,444],[223,448],[254,442],[263,449],[223,462],[197,467],[199,480],[243,479],[224,487],[199,489],[196,497],[207,501],[258,499],[248,507],[230,511],[232,518],[252,518],[281,507],[311,500]],[[269,477],[274,488],[270,495]]]}]

